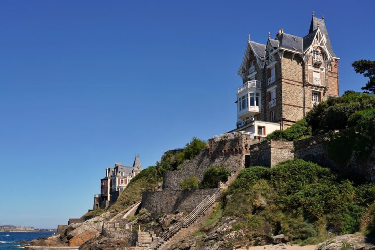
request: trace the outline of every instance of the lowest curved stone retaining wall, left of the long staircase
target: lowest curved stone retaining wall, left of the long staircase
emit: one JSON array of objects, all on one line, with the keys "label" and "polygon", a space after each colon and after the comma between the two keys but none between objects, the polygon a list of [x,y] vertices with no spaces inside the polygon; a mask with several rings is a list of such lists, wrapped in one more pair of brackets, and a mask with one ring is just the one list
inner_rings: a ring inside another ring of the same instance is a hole
[{"label": "lowest curved stone retaining wall, left of the long staircase", "polygon": [[191,212],[207,196],[216,191],[217,188],[146,192],[142,195],[142,207],[151,212],[153,217],[177,211]]}]

